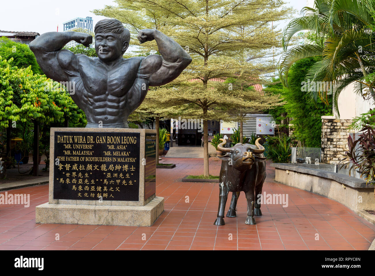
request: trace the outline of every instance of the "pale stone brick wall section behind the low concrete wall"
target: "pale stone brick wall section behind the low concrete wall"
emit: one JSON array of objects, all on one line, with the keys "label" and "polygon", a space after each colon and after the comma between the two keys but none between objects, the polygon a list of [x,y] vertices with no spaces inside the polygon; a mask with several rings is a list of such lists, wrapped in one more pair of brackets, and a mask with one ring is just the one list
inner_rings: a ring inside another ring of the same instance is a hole
[{"label": "pale stone brick wall section behind the low concrete wall", "polygon": [[322,163],[338,163],[348,150],[347,127],[352,119],[336,119],[334,116],[322,116]]}]

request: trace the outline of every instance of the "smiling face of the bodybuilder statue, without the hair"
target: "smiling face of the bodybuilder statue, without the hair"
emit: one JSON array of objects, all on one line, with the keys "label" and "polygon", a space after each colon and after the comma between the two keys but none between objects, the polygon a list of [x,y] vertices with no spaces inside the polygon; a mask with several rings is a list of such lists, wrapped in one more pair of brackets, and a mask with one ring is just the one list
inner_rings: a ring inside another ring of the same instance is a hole
[{"label": "smiling face of the bodybuilder statue, without the hair", "polygon": [[95,51],[103,61],[115,60],[123,55],[129,43],[122,42],[118,33],[96,33]]}]

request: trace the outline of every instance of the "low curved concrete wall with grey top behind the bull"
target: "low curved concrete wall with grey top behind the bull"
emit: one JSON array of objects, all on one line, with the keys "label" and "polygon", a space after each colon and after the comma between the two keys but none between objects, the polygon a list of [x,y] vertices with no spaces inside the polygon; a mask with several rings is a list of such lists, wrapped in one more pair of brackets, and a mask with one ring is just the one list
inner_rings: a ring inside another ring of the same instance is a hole
[{"label": "low curved concrete wall with grey top behind the bull", "polygon": [[375,210],[374,186],[362,179],[294,164],[272,163],[275,180],[338,201],[353,211]]}]

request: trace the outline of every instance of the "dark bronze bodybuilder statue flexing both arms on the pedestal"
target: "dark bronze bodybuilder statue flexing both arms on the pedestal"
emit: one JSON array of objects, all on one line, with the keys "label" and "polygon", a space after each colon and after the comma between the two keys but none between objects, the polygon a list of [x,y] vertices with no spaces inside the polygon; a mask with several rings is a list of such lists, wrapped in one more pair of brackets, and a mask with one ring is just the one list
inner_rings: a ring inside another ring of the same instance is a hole
[{"label": "dark bronze bodybuilder statue flexing both arms on the pedestal", "polygon": [[75,85],[71,97],[86,113],[86,127],[127,128],[127,117],[142,103],[148,87],[169,83],[192,61],[177,42],[158,30],[138,33],[141,43],[153,39],[161,56],[124,59],[130,32],[120,21],[104,19],[95,25],[96,58],[62,49],[72,40],[89,47],[92,36],[87,33],[43,33],[30,49],[47,77]]}]

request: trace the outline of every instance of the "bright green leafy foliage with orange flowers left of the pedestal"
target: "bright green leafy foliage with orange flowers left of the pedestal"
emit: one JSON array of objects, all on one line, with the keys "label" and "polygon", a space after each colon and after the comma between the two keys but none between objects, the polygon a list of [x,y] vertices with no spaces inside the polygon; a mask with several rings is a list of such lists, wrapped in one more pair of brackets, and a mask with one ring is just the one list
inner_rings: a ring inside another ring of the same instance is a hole
[{"label": "bright green leafy foliage with orange flowers left of the pedestal", "polygon": [[65,87],[45,75],[33,74],[31,66],[17,68],[12,62],[13,58],[8,61],[0,56],[0,127],[10,130],[13,137],[21,136],[24,139],[23,151],[28,155],[31,147],[29,134],[37,122],[40,149],[47,154],[52,126],[62,126],[65,119],[71,126],[84,126],[86,117]]}]

